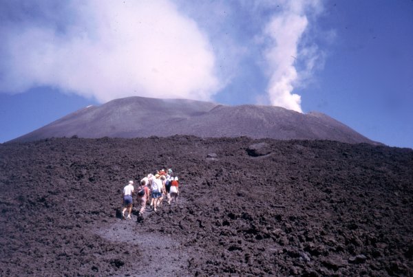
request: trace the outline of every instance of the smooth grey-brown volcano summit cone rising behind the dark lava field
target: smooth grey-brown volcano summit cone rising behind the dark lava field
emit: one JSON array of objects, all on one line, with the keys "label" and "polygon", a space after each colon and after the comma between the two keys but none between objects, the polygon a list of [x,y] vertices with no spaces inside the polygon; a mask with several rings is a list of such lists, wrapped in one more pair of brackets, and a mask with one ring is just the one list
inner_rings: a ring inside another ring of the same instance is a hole
[{"label": "smooth grey-brown volcano summit cone rising behind the dark lava field", "polygon": [[281,107],[224,106],[184,99],[129,97],[87,107],[23,135],[14,142],[50,137],[198,137],[274,138],[372,142],[323,113],[297,113]]}]

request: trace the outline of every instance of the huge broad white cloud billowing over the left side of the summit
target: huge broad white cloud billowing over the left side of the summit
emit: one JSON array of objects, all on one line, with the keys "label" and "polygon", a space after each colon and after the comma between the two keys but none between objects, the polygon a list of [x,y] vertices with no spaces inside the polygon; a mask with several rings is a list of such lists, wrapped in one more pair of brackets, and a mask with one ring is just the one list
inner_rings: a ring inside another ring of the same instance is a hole
[{"label": "huge broad white cloud billowing over the left side of the summit", "polygon": [[220,88],[209,39],[169,1],[73,1],[72,7],[75,20],[64,32],[53,24],[7,32],[2,91],[50,85],[106,102],[210,100]]}]

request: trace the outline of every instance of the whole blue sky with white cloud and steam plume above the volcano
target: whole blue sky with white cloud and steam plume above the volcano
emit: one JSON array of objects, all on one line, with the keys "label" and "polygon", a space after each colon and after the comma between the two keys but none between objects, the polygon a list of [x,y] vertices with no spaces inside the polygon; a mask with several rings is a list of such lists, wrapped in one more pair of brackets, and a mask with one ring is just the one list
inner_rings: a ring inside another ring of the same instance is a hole
[{"label": "whole blue sky with white cloud and steam plume above the volcano", "polygon": [[0,142],[127,96],[320,111],[413,148],[413,1],[0,0]]}]

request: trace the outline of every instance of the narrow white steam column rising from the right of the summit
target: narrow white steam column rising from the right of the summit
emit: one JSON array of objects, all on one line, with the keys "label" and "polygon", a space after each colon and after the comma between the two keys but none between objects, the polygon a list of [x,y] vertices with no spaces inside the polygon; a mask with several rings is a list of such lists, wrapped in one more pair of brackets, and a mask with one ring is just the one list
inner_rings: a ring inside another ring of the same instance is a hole
[{"label": "narrow white steam column rising from the right of the summit", "polygon": [[[301,96],[293,93],[301,80],[308,78],[315,68],[319,56],[317,47],[304,45],[299,47],[311,15],[321,11],[319,1],[279,1],[282,11],[277,12],[266,25],[264,38],[267,46],[266,62],[270,71],[268,98],[271,104],[286,109],[302,112]],[[304,69],[297,70],[297,63],[303,63]]]}]

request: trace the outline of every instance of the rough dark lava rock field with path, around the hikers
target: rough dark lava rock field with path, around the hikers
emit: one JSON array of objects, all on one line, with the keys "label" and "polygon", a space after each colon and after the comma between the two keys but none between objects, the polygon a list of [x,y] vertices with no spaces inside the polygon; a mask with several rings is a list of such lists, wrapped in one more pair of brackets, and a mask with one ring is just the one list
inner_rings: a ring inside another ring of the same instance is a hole
[{"label": "rough dark lava rock field with path, around the hikers", "polygon": [[[120,219],[127,181],[167,167],[178,204]],[[413,151],[370,144],[0,144],[0,275],[412,276],[412,186]]]}]

